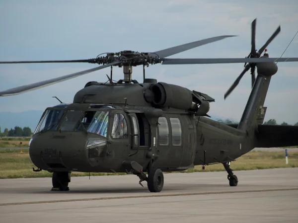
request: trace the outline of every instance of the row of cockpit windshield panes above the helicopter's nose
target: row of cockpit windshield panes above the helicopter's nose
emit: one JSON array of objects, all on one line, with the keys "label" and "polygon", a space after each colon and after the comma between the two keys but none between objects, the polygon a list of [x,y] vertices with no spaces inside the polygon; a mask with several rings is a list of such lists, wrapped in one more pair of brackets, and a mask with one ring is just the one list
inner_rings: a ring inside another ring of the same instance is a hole
[{"label": "row of cockpit windshield panes above the helicopter's nose", "polygon": [[107,137],[109,111],[79,111],[49,109],[40,120],[35,132],[87,131]]}]

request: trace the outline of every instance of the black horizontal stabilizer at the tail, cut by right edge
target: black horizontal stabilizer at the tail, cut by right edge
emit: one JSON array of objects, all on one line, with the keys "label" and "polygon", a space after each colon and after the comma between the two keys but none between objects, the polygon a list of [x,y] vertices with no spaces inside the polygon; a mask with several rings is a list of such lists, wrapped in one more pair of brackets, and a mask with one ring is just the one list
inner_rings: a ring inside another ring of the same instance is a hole
[{"label": "black horizontal stabilizer at the tail, cut by right edge", "polygon": [[256,148],[298,146],[298,126],[258,125]]}]

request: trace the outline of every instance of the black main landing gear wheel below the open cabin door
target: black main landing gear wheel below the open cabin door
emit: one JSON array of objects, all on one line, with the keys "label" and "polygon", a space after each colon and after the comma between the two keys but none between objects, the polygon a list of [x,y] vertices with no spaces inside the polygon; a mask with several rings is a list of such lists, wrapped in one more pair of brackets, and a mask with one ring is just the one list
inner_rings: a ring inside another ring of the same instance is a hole
[{"label": "black main landing gear wheel below the open cabin door", "polygon": [[163,188],[163,173],[161,169],[152,168],[148,172],[147,185],[150,192],[160,192]]}]

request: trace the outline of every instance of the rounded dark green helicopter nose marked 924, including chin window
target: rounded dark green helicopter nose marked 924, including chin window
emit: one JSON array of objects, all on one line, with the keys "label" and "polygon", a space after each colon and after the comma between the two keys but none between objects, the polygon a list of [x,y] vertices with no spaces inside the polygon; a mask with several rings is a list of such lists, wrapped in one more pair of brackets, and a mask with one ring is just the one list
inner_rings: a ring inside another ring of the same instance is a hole
[{"label": "rounded dark green helicopter nose marked 924, including chin window", "polygon": [[34,165],[50,171],[88,171],[106,154],[104,139],[85,133],[43,133],[32,137],[29,154]]}]

